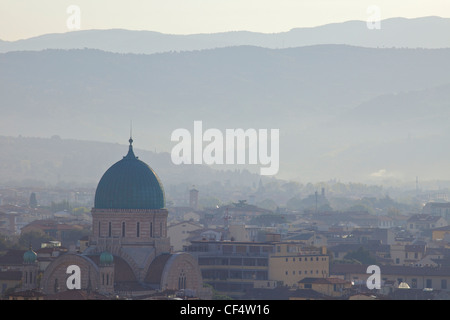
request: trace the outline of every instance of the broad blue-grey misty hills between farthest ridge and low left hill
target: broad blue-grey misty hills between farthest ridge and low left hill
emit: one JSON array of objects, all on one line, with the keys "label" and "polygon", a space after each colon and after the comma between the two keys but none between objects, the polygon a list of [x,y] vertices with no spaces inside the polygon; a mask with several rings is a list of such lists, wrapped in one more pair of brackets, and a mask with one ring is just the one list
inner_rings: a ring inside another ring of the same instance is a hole
[{"label": "broad blue-grey misty hills between farthest ridge and low left hill", "polygon": [[448,179],[448,61],[450,49],[345,45],[9,52],[0,134],[126,143],[132,120],[136,148],[170,152],[172,131],[202,120],[279,128],[283,178]]}]

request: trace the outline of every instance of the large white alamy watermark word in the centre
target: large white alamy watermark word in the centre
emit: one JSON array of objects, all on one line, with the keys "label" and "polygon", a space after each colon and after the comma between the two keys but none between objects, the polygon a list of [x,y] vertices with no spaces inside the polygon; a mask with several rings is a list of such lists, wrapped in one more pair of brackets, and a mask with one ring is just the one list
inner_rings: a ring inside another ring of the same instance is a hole
[{"label": "large white alamy watermark word in the centre", "polygon": [[[194,121],[194,133],[180,128],[172,132],[174,164],[251,164],[262,165],[261,175],[275,175],[279,169],[279,129],[219,129],[203,132],[202,121]],[[248,142],[248,143],[247,143]],[[206,145],[204,146],[204,144]]]}]

